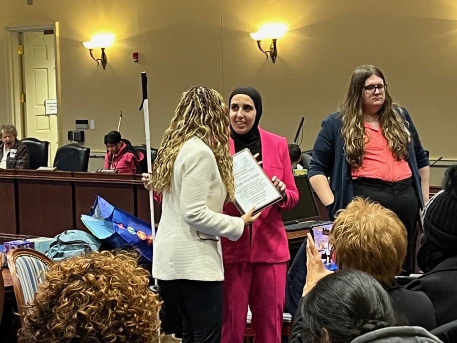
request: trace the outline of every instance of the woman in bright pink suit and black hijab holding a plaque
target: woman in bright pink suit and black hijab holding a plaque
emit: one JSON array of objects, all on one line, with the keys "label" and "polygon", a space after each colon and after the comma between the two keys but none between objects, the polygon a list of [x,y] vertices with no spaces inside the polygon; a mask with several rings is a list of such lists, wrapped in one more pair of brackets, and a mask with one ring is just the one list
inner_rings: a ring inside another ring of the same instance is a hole
[{"label": "woman in bright pink suit and black hijab holding a plaque", "polygon": [[[249,148],[283,196],[279,203],[262,211],[259,219],[245,227],[241,238],[222,238],[224,301],[222,343],[242,343],[248,304],[255,340],[281,342],[286,272],[290,259],[281,211],[298,202],[298,190],[290,168],[287,140],[259,127],[262,98],[253,87],[239,87],[229,99],[230,152]],[[224,213],[240,216],[232,203]]]}]

